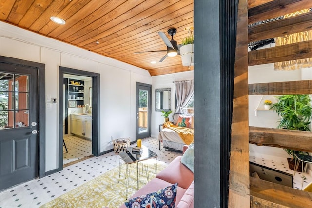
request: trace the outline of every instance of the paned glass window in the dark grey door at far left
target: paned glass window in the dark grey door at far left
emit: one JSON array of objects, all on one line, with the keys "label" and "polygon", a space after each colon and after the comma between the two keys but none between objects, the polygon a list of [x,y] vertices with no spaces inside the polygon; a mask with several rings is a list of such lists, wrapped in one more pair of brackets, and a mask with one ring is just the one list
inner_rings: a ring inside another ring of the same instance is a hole
[{"label": "paned glass window in the dark grey door at far left", "polygon": [[29,76],[0,73],[0,128],[29,126]]}]

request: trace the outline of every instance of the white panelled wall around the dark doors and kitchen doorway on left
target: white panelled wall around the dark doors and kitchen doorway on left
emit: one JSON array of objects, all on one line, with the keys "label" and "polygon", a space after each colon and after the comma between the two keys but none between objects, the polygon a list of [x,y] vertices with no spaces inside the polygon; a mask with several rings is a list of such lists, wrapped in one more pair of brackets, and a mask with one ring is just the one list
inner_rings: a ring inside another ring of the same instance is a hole
[{"label": "white panelled wall around the dark doors and kitchen doorway on left", "polygon": [[[0,22],[0,55],[45,64],[46,95],[59,100],[59,66],[100,74],[100,151],[111,137],[135,140],[136,82],[152,84],[148,71]],[[58,168],[59,105],[46,109],[46,171]]]}]

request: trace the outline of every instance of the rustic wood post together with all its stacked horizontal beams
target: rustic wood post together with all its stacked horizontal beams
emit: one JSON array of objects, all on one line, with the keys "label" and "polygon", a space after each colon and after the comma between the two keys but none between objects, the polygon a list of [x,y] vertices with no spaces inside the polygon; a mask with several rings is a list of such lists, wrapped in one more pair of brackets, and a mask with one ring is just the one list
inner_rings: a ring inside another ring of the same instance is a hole
[{"label": "rustic wood post together with all its stacked horizontal beams", "polygon": [[[311,40],[247,55],[247,44],[311,29],[312,13],[297,15],[248,29],[266,19],[311,8],[310,0],[239,0],[234,79],[229,207],[310,208],[312,193],[249,177],[248,143],[312,152],[312,132],[248,127],[248,95],[311,94],[312,80],[247,83],[248,66],[312,57]],[[248,20],[247,20],[248,19]],[[291,139],[289,139],[291,138]],[[249,141],[249,142],[248,142]],[[248,191],[250,187],[250,192]],[[250,202],[247,198],[250,197]]]}]

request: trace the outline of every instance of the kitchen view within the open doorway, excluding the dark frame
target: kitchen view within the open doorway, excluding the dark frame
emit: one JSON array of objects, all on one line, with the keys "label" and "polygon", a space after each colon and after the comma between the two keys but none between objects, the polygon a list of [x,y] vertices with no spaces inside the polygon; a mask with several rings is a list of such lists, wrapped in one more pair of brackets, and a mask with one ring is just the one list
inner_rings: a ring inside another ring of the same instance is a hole
[{"label": "kitchen view within the open doorway, excluding the dark frame", "polygon": [[64,74],[63,166],[92,155],[92,77]]}]

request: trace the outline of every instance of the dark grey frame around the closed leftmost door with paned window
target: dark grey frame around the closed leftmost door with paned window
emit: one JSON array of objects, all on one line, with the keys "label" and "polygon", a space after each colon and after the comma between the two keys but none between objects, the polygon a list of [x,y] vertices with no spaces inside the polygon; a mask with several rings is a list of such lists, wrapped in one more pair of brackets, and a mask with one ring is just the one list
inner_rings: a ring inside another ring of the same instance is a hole
[{"label": "dark grey frame around the closed leftmost door with paned window", "polygon": [[0,56],[2,63],[37,68],[38,73],[38,177],[46,176],[45,171],[45,64]]}]

